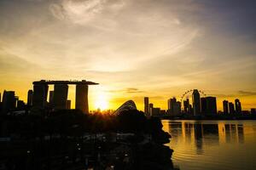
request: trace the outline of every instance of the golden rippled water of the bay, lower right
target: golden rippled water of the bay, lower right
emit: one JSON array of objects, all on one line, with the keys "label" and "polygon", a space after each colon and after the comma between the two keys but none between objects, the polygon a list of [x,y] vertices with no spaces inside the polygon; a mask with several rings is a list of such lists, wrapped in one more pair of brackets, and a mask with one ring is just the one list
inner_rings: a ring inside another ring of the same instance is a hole
[{"label": "golden rippled water of the bay, lower right", "polygon": [[172,135],[167,145],[180,169],[256,169],[256,122],[163,121],[163,125]]}]

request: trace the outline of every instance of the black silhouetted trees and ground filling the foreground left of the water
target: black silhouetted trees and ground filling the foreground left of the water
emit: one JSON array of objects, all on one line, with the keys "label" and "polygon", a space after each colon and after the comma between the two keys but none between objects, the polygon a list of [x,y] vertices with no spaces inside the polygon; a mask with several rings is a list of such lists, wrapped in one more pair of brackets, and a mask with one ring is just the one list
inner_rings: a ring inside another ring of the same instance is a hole
[{"label": "black silhouetted trees and ground filling the foreground left of the water", "polygon": [[141,111],[2,116],[0,169],[173,169],[170,134]]}]

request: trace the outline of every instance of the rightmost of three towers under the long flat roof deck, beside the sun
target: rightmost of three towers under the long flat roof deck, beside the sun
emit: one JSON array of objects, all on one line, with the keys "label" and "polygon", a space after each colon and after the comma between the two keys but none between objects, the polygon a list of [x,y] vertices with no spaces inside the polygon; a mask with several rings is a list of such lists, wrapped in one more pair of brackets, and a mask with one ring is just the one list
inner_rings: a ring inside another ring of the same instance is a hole
[{"label": "rightmost of three towers under the long flat roof deck, beside the sun", "polygon": [[76,85],[75,108],[80,111],[83,111],[84,113],[89,113],[88,85],[86,85],[86,84],[77,84]]}]

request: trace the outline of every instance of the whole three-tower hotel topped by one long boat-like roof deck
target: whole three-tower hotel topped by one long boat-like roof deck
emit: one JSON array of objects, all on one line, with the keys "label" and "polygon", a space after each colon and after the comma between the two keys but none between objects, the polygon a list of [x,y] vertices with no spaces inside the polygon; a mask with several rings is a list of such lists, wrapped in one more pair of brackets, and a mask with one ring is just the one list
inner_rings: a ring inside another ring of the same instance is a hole
[{"label": "whole three-tower hotel topped by one long boat-like roof deck", "polygon": [[[54,91],[49,92],[49,103],[55,110],[67,109],[68,85],[76,86],[75,109],[89,113],[88,86],[97,85],[96,82],[82,81],[45,81],[33,82],[31,95],[32,107],[45,108],[47,103],[49,85],[54,85]],[[28,98],[30,95],[28,94]]]}]

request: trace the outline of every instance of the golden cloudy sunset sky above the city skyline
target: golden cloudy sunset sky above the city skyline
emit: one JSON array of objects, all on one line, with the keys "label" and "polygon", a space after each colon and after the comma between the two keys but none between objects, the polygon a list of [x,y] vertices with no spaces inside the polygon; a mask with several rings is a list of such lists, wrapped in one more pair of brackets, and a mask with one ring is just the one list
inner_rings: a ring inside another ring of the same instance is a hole
[{"label": "golden cloudy sunset sky above the city skyline", "polygon": [[[90,110],[198,88],[256,107],[255,0],[0,0],[0,92],[81,80]],[[51,87],[53,88],[53,87]],[[74,87],[69,88],[74,103]]]}]

